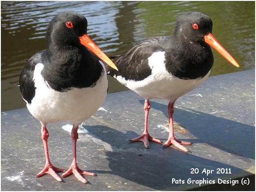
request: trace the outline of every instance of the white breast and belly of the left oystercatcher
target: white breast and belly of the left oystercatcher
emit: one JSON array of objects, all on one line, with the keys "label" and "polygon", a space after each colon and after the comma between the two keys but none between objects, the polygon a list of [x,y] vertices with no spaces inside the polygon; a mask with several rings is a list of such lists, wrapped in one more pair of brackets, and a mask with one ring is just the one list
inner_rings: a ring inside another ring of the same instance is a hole
[{"label": "white breast and belly of the left oystercatcher", "polygon": [[105,100],[108,81],[104,71],[94,87],[72,88],[67,92],[57,92],[47,85],[41,75],[43,64],[38,63],[34,70],[35,96],[27,103],[30,113],[47,124],[61,120],[81,123],[89,118]]}]

